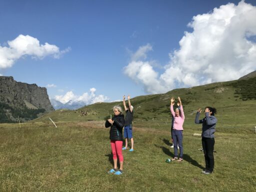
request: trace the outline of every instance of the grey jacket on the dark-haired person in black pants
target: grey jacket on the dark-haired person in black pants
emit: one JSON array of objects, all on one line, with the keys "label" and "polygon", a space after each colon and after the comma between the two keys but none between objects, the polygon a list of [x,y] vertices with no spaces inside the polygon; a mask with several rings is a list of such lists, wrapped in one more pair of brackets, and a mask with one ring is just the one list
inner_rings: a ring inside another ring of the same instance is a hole
[{"label": "grey jacket on the dark-haired person in black pants", "polygon": [[215,116],[209,115],[209,112],[205,112],[205,117],[199,120],[200,112],[196,113],[194,122],[196,124],[202,123],[202,137],[214,137],[215,126],[217,119]]}]

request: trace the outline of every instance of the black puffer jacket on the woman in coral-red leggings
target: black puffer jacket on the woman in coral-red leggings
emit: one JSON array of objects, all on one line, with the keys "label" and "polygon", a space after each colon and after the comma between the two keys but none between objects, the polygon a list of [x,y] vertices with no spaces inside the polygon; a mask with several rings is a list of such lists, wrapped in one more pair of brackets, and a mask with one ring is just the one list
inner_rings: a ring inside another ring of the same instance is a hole
[{"label": "black puffer jacket on the woman in coral-red leggings", "polygon": [[110,140],[122,140],[122,127],[125,122],[123,114],[114,115],[112,120],[114,121],[112,125],[107,120],[105,122],[106,128],[110,126],[109,138]]}]

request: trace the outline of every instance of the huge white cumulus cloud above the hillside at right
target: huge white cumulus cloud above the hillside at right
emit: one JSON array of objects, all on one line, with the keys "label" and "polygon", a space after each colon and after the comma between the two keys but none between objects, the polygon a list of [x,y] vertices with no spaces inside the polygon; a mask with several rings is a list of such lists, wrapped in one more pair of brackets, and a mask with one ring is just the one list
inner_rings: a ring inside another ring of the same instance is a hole
[{"label": "huge white cumulus cloud above the hillside at right", "polygon": [[162,74],[158,76],[150,61],[143,60],[152,50],[150,44],[139,47],[124,73],[150,93],[237,79],[256,69],[255,18],[256,7],[243,0],[193,16],[188,23],[192,32],[184,32]]}]

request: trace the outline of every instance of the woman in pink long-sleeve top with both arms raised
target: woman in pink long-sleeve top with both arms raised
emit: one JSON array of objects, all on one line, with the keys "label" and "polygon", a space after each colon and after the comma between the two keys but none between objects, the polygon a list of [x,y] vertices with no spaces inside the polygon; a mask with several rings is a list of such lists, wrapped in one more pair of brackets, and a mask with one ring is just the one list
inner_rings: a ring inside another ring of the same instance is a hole
[{"label": "woman in pink long-sleeve top with both arms raised", "polygon": [[[182,146],[182,140],[183,140],[183,122],[185,120],[185,115],[183,112],[183,107],[180,98],[178,97],[178,101],[180,103],[180,109],[176,108],[175,112],[173,110],[174,105],[174,98],[171,97],[170,99],[170,112],[174,116],[174,122],[173,122],[173,130],[172,130],[172,139],[173,139],[173,145],[174,145],[174,158],[172,160],[182,161],[183,160],[183,146]],[[179,147],[179,158],[178,158],[178,149],[177,145]]]}]

